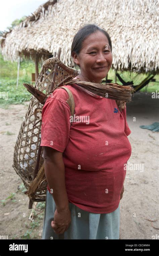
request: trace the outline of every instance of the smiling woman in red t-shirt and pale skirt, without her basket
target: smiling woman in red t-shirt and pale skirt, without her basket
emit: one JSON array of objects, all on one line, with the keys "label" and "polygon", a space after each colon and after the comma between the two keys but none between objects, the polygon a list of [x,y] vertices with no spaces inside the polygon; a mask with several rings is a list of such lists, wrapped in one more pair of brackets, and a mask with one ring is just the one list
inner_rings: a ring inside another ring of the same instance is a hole
[{"label": "smiling woman in red t-shirt and pale skirt, without her basket", "polygon": [[[109,34],[94,24],[74,36],[71,56],[81,72],[76,78],[101,83],[112,65]],[[55,90],[42,113],[42,140],[48,182],[42,239],[119,239],[124,164],[131,155],[126,107],[77,85]],[[54,218],[54,221],[53,221]]]}]

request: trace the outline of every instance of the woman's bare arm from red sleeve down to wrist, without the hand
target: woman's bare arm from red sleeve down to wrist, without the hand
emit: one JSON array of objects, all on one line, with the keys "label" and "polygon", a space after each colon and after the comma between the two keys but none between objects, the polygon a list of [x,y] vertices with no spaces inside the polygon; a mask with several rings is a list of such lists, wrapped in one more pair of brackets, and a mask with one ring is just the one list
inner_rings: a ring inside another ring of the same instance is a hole
[{"label": "woman's bare arm from red sleeve down to wrist, without the hand", "polygon": [[43,157],[46,180],[50,190],[53,191],[57,212],[65,212],[69,208],[69,202],[65,187],[65,166],[62,152],[44,147]]}]

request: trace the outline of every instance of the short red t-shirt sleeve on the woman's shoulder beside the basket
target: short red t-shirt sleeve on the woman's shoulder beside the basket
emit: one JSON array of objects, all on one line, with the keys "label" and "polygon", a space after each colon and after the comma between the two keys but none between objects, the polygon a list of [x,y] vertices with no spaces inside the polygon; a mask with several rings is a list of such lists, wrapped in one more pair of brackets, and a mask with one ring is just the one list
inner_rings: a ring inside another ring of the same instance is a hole
[{"label": "short red t-shirt sleeve on the woman's shoulder beside the basket", "polygon": [[[58,92],[57,92],[58,91]],[[42,110],[41,144],[64,152],[70,131],[70,108],[64,89],[58,89],[54,96],[47,99]],[[61,100],[59,99],[59,95]],[[64,100],[62,100],[62,97]]]}]

